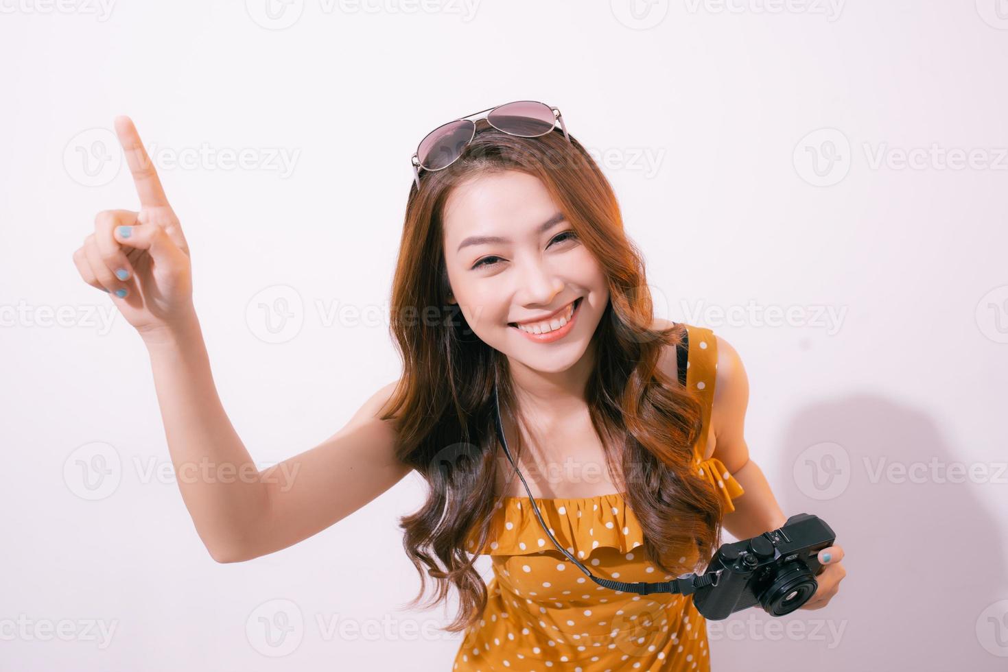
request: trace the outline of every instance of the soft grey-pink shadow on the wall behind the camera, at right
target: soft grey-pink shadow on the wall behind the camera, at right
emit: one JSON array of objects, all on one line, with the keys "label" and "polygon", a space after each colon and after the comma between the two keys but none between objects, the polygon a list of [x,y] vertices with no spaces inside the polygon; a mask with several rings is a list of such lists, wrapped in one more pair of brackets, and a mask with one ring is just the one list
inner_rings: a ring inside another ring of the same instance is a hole
[{"label": "soft grey-pink shadow on the wall behind the camera, at right", "polygon": [[829,523],[848,574],[824,609],[709,621],[713,669],[1008,670],[1004,531],[977,497],[1008,498],[1004,462],[970,462],[928,416],[867,395],[805,408],[781,449],[766,472],[781,508]]}]

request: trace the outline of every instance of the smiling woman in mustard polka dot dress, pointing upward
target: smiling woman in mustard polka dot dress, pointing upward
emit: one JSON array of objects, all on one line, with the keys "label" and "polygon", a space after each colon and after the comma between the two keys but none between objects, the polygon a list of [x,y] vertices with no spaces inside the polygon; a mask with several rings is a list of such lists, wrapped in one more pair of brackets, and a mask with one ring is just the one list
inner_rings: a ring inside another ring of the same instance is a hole
[{"label": "smiling woman in mustard polka dot dress, pointing upward", "polygon": [[[147,346],[176,469],[251,464],[214,388],[178,220],[132,122],[116,131],[140,211],[99,214],[75,263]],[[392,288],[401,378],[254,478],[180,481],[201,539],[219,562],[272,553],[416,469],[429,494],[401,521],[414,603],[428,578],[434,601],[458,591],[455,669],[709,669],[691,598],[588,583],[545,539],[502,460],[494,402],[553,538],[598,576],[667,580],[703,571],[722,526],[743,539],[786,520],[749,459],[738,354],[653,318],[612,188],[558,110],[523,101],[451,122],[413,164]],[[489,584],[473,566],[482,553]],[[821,552],[802,609],[836,594],[842,557]]]}]

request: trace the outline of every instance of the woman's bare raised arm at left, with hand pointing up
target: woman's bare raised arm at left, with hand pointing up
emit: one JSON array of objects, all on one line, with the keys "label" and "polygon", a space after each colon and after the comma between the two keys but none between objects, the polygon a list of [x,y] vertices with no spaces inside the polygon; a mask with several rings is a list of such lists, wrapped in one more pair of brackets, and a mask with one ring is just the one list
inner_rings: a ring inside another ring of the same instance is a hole
[{"label": "woman's bare raised arm at left, with hand pointing up", "polygon": [[391,488],[410,471],[395,457],[393,421],[377,417],[396,383],[322,444],[258,471],[214,385],[181,225],[133,122],[117,118],[116,133],[140,210],[100,213],[74,263],[147,347],[178,489],[210,554],[235,562],[285,548]]}]

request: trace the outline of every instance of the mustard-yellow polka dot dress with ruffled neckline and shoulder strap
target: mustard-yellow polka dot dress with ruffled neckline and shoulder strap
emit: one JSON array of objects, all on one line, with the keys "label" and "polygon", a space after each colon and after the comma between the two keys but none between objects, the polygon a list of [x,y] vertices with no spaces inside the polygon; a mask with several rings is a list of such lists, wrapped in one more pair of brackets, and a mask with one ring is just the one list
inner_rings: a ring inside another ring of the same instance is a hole
[{"label": "mustard-yellow polka dot dress with ruffled neckline and shoulder strap", "polygon": [[[714,398],[717,342],[707,328],[686,325],[686,385],[704,401],[704,428],[694,447],[703,478],[734,511],[739,483],[717,458],[703,459]],[[602,578],[674,578],[644,558],[643,533],[619,494],[583,499],[536,499],[556,541]],[[475,547],[475,531],[469,545]],[[596,585],[542,531],[527,497],[499,502],[487,547],[493,561],[487,607],[465,632],[454,669],[491,672],[546,670],[710,670],[706,621],[689,595],[639,595]],[[694,556],[680,561],[696,561]],[[697,571],[704,568],[699,567]]]}]

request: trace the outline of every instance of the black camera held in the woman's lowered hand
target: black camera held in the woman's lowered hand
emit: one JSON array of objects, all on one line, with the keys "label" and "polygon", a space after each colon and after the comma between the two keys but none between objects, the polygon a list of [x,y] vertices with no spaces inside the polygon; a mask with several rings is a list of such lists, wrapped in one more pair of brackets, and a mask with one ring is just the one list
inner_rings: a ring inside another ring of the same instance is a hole
[{"label": "black camera held in the woman's lowered hand", "polygon": [[802,513],[776,530],[723,544],[704,572],[720,571],[718,580],[697,588],[694,604],[711,621],[756,604],[770,616],[790,614],[815,593],[824,569],[818,552],[836,539],[825,521]]}]

